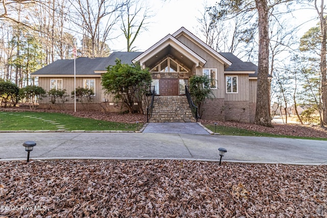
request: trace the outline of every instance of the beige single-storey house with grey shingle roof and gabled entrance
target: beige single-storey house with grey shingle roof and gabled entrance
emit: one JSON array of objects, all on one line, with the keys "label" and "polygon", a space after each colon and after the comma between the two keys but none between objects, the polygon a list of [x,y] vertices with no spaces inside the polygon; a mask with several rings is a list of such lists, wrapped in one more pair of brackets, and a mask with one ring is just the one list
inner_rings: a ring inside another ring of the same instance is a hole
[{"label": "beige single-storey house with grey shingle roof and gabled entrance", "polygon": [[[168,34],[145,52],[113,52],[106,58],[77,58],[76,87],[95,92],[94,109],[119,111],[120,105],[101,87],[101,75],[115,59],[148,67],[158,96],[183,96],[193,75],[212,79],[213,99],[205,101],[202,118],[252,123],[255,115],[257,66],[231,53],[218,53],[185,28]],[[74,90],[74,60],[57,60],[32,74],[45,90]],[[49,107],[49,99],[40,106]],[[67,104],[74,104],[69,99]],[[104,106],[105,105],[105,106]]]}]

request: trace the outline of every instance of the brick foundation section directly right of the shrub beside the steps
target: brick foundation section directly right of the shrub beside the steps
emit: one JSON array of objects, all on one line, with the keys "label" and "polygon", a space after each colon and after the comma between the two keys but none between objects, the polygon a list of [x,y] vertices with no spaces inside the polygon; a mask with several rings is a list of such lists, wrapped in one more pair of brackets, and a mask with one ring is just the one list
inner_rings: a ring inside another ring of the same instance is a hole
[{"label": "brick foundation section directly right of the shrub beside the steps", "polygon": [[207,99],[203,109],[201,119],[225,120],[224,99]]}]

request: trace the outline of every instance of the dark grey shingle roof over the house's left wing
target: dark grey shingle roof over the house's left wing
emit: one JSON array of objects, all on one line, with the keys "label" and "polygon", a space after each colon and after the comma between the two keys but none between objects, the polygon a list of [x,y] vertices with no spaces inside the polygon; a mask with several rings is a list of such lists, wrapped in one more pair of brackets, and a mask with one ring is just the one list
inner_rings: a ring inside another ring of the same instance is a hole
[{"label": "dark grey shingle roof over the house's left wing", "polygon": [[[95,70],[106,71],[107,66],[115,65],[116,58],[122,63],[132,64],[132,60],[141,52],[113,52],[106,58],[77,58],[76,75],[94,75]],[[74,59],[57,60],[33,72],[32,75],[74,75]]]}]

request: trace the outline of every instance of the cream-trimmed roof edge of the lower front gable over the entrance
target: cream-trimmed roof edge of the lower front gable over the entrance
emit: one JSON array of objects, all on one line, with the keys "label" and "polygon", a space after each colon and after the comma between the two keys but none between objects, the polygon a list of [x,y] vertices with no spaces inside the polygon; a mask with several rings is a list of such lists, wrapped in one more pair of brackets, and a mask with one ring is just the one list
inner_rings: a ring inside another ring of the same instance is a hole
[{"label": "cream-trimmed roof edge of the lower front gable over the entrance", "polygon": [[178,41],[172,35],[168,34],[166,37],[162,38],[160,41],[152,45],[147,51],[142,53],[141,55],[137,56],[133,62],[139,62],[141,66],[149,60],[150,58],[154,57],[158,52],[165,49],[165,47],[171,46],[174,49],[181,52],[185,57],[190,59],[192,62],[196,64],[196,66],[203,66],[206,63],[202,57],[198,54],[193,52],[189,47]]}]

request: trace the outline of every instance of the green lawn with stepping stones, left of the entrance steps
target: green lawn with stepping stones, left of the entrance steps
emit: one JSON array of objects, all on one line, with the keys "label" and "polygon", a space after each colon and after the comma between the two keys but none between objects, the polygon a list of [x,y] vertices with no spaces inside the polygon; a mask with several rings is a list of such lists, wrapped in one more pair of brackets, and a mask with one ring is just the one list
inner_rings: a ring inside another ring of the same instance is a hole
[{"label": "green lawn with stepping stones, left of the entrance steps", "polygon": [[[53,122],[53,123],[51,123]],[[58,127],[64,125],[62,127]],[[141,128],[139,125],[138,128]],[[0,130],[122,130],[134,131],[136,124],[115,123],[90,118],[74,117],[62,113],[46,112],[0,112]]]}]

